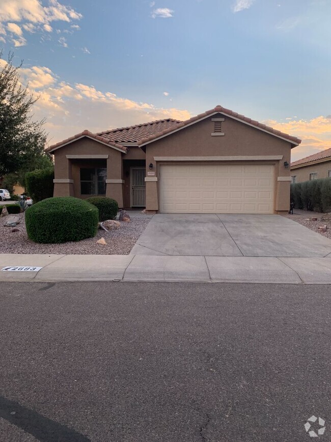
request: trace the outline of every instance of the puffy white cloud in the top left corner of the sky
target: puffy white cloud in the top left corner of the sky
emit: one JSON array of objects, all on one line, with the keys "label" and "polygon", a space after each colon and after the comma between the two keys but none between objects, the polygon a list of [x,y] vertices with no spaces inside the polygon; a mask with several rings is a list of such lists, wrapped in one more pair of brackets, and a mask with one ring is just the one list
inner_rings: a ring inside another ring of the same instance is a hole
[{"label": "puffy white cloud in the top left corner of the sky", "polygon": [[[47,0],[48,5],[43,6],[41,0],[1,0],[0,2],[0,34],[6,35],[5,25],[10,33],[17,37],[9,36],[15,46],[26,44],[23,31],[26,32],[52,32],[52,21],[72,22],[79,20],[82,15],[70,6],[65,6],[58,0]],[[19,26],[17,23],[21,23]],[[4,37],[3,37],[4,38]]]}]

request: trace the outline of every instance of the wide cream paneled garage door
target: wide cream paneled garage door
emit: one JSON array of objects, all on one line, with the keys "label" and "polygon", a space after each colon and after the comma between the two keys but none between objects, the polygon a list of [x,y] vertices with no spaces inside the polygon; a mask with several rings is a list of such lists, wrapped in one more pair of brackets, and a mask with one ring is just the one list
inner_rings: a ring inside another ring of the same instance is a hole
[{"label": "wide cream paneled garage door", "polygon": [[273,165],[164,164],[162,213],[273,213]]}]

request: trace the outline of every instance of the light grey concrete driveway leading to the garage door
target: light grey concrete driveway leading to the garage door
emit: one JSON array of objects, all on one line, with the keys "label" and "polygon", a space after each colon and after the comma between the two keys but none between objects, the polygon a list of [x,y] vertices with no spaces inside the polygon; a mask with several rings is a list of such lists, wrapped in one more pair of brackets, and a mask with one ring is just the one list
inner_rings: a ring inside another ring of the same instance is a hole
[{"label": "light grey concrete driveway leading to the garage door", "polygon": [[331,240],[279,215],[157,214],[131,254],[324,257]]}]

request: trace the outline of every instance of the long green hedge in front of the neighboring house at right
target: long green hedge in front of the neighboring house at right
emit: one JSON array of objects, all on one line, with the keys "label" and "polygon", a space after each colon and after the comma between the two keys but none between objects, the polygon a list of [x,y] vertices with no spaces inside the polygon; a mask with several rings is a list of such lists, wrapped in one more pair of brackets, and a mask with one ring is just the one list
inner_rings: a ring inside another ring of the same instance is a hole
[{"label": "long green hedge in front of the neighboring house at right", "polygon": [[291,184],[291,201],[296,209],[316,212],[331,210],[331,178]]}]

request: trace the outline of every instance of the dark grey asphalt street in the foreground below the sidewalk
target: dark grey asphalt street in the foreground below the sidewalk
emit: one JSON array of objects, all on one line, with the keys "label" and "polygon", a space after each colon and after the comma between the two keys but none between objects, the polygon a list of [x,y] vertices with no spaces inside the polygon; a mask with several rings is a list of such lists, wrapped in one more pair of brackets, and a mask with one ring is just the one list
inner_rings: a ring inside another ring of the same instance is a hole
[{"label": "dark grey asphalt street in the foreground below the sidewalk", "polygon": [[330,295],[2,282],[0,441],[329,441]]}]

